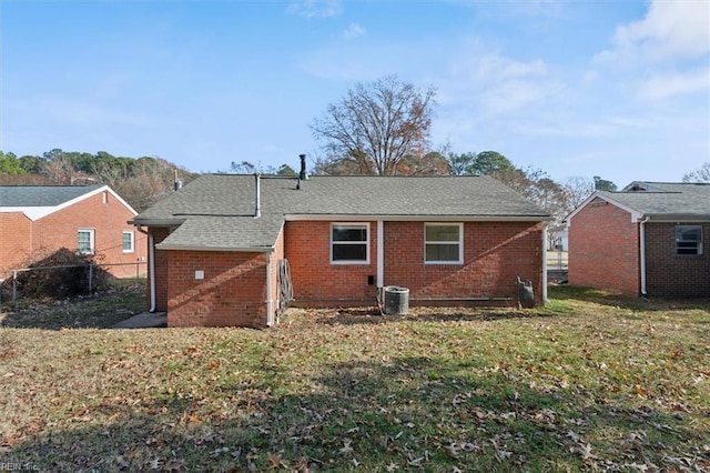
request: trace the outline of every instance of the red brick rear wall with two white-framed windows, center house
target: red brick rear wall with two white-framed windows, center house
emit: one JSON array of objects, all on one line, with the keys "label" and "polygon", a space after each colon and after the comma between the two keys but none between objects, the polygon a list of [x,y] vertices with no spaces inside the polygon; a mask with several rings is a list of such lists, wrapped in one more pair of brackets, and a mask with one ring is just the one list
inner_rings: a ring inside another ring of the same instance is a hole
[{"label": "red brick rear wall with two white-framed windows, center house", "polygon": [[[369,263],[331,264],[331,222],[287,222],[285,254],[291,263],[296,305],[374,303],[377,224],[369,222]],[[541,302],[540,223],[467,222],[463,264],[424,264],[424,223],[385,222],[385,285],[409,289],[409,299],[517,299],[515,276],[531,280]]]}]

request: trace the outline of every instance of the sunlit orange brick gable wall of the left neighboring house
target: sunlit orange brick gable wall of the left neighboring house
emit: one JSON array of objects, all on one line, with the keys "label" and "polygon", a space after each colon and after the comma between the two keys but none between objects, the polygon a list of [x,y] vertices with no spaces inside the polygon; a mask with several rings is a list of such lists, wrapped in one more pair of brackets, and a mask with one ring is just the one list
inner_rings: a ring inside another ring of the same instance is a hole
[{"label": "sunlit orange brick gable wall of the left neighboring house", "polygon": [[[103,202],[104,194],[106,202]],[[7,215],[7,214],[6,214]],[[79,229],[92,229],[94,231],[94,251],[97,261],[105,264],[125,264],[106,266],[109,272],[119,278],[134,276],[136,269],[140,274],[145,274],[146,255],[145,235],[135,231],[133,225],[126,222],[133,218],[118,199],[109,192],[101,192],[88,199],[81,200],[73,205],[61,209],[47,217],[43,217],[28,224],[14,224],[2,220],[2,232],[12,232],[10,241],[24,241],[29,244],[24,251],[19,251],[21,245],[14,245],[14,256],[8,261],[12,264],[6,265],[3,258],[3,270],[17,268],[18,263],[24,263],[28,258],[44,256],[60,248],[75,250],[78,244]],[[12,225],[10,230],[6,224]],[[134,252],[123,253],[123,231],[131,231],[134,234]],[[2,236],[4,246],[6,238]],[[10,243],[12,244],[12,243]]]}]

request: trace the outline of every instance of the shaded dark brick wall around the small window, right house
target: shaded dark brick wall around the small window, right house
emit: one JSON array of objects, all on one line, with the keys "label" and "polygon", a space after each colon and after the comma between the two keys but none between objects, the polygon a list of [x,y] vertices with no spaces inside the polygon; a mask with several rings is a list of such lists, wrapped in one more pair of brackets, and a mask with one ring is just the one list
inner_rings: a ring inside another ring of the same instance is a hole
[{"label": "shaded dark brick wall around the small window, right house", "polygon": [[[702,225],[701,255],[676,254],[676,225]],[[646,288],[652,296],[710,296],[710,223],[645,224]]]}]

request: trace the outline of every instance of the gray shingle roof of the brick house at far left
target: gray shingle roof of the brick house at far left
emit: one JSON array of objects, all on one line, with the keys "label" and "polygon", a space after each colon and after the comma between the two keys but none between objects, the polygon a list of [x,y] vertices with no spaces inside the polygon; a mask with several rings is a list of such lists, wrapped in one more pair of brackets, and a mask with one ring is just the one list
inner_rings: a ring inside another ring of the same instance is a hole
[{"label": "gray shingle roof of the brick house at far left", "polygon": [[0,207],[55,207],[101,185],[0,185]]}]

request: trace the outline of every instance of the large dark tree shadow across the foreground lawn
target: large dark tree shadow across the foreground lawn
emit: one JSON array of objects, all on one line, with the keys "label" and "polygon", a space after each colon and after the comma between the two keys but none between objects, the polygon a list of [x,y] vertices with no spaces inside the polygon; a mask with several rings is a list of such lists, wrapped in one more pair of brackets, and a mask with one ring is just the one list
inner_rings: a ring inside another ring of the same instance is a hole
[{"label": "large dark tree shadow across the foreground lawn", "polygon": [[0,459],[51,471],[710,467],[693,453],[707,432],[651,401],[535,386],[475,360],[333,363],[296,389],[283,376],[88,406],[4,439]]}]

